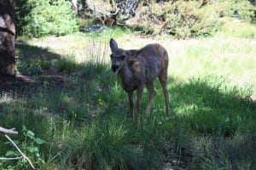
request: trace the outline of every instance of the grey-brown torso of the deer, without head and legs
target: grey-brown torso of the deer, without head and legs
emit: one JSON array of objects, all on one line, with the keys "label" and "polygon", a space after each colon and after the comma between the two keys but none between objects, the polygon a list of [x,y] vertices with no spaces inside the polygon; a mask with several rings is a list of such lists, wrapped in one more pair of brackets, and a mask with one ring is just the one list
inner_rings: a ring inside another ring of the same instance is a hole
[{"label": "grey-brown torso of the deer, without head and legs", "polygon": [[137,89],[142,84],[152,82],[162,69],[167,69],[168,55],[160,44],[148,44],[137,50],[137,55],[125,59],[125,65],[119,71],[122,86],[126,92]]}]

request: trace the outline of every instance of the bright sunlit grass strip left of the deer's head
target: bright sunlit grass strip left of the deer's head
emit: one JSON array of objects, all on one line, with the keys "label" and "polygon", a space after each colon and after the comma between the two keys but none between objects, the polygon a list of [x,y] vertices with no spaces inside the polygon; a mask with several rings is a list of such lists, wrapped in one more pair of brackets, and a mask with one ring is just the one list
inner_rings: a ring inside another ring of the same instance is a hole
[{"label": "bright sunlit grass strip left of the deer's head", "polygon": [[73,55],[77,63],[88,60],[106,62],[109,60],[108,41],[111,37],[128,40],[131,39],[131,32],[121,28],[107,29],[99,33],[76,33],[65,37],[32,39],[29,44],[49,48],[55,54]]}]

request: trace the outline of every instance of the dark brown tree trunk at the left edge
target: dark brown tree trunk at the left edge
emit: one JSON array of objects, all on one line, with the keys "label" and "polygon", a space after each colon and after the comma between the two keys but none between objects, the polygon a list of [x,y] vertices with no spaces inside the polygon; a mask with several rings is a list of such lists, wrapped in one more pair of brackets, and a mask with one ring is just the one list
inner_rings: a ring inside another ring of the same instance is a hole
[{"label": "dark brown tree trunk at the left edge", "polygon": [[0,0],[0,75],[15,75],[15,0]]}]

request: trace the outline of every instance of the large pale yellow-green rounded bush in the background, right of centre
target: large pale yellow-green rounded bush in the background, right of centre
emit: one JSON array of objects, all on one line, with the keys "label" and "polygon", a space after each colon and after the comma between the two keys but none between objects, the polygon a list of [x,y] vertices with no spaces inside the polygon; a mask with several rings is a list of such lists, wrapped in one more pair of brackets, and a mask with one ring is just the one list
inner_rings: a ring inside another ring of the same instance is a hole
[{"label": "large pale yellow-green rounded bush in the background, right of centre", "polygon": [[143,21],[133,22],[144,33],[157,35],[164,32],[177,38],[198,37],[212,34],[220,26],[218,13],[212,9],[205,13],[200,2],[152,3],[148,7],[139,8],[143,11]]}]

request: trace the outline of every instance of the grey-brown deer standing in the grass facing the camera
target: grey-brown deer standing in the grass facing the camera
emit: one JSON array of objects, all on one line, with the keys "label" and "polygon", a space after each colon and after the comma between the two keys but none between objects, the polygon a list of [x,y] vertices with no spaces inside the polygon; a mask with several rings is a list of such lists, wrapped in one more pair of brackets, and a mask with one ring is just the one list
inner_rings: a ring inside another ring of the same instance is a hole
[{"label": "grey-brown deer standing in the grass facing the camera", "polygon": [[133,93],[137,90],[137,114],[141,112],[143,88],[148,89],[146,116],[150,111],[155,96],[154,79],[159,78],[166,99],[166,115],[169,114],[169,97],[167,92],[168,54],[158,43],[148,44],[141,49],[125,50],[110,39],[112,71],[118,73],[122,87],[128,94],[133,114]]}]

